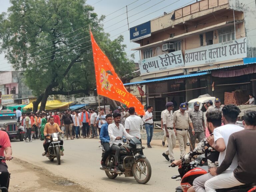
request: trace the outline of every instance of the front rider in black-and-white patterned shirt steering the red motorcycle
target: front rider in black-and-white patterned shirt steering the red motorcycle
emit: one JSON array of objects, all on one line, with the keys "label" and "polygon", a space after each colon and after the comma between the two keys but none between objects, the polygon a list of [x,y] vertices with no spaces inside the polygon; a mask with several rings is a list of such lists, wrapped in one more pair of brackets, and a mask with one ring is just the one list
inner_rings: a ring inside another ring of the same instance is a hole
[{"label": "front rider in black-and-white patterned shirt steering the red motorcycle", "polygon": [[[206,118],[207,118],[207,128],[210,133],[213,133],[213,130],[216,127],[221,126],[222,115],[220,111],[207,112]],[[219,152],[214,150],[209,145],[209,143],[206,141],[206,138],[203,139],[200,143],[198,143],[197,147],[193,151],[190,151],[188,154],[184,155],[180,160],[173,161],[171,165],[173,164],[180,165],[181,163],[188,164],[193,160],[193,157],[195,155],[202,155],[202,154],[205,154],[205,158],[203,158],[202,163],[207,161],[209,168],[218,167]],[[200,179],[200,177],[197,177],[194,180],[193,186],[194,186],[194,183],[197,183],[198,179]],[[188,192],[193,192],[196,190],[195,186],[194,186],[195,190],[193,186],[189,188]]]}]

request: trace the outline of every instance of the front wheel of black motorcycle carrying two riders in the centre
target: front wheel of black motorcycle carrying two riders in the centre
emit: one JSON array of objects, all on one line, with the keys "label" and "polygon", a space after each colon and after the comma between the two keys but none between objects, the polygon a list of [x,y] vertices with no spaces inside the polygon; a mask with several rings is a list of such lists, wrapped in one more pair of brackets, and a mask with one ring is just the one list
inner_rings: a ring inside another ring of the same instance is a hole
[{"label": "front wheel of black motorcycle carrying two riders in the centre", "polygon": [[[138,170],[138,168],[140,170]],[[140,158],[132,165],[132,173],[135,180],[140,184],[146,184],[151,177],[151,165],[147,158]]]}]

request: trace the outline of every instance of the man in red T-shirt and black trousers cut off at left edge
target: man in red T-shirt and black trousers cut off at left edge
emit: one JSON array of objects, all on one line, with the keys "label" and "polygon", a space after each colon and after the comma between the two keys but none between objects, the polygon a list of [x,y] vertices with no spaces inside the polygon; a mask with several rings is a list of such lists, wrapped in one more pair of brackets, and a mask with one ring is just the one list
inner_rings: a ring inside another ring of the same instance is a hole
[{"label": "man in red T-shirt and black trousers cut off at left edge", "polygon": [[[11,142],[4,128],[0,128],[0,156],[5,156],[7,161],[12,159]],[[0,161],[0,186],[8,188],[9,172],[5,160]]]}]

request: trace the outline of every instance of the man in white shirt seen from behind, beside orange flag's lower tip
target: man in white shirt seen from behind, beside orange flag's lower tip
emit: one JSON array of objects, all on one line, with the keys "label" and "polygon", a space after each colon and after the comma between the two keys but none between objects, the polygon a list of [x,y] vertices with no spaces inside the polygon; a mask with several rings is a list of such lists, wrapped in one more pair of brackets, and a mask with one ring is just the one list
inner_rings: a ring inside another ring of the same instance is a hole
[{"label": "man in white shirt seen from behind, beside orange flag's lower tip", "polygon": [[[130,116],[126,118],[124,128],[133,137],[138,137],[141,142],[141,136],[140,136],[140,126],[143,126],[142,119],[135,115],[135,108],[130,107],[129,108],[129,114]],[[143,151],[141,151],[141,155],[143,155]]]}]

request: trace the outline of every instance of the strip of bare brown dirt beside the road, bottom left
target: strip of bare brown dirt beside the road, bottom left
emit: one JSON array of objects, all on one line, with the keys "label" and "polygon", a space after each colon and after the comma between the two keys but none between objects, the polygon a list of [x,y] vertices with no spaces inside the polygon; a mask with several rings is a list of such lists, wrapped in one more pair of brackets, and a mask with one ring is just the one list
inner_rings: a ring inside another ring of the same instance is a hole
[{"label": "strip of bare brown dirt beside the road, bottom left", "polygon": [[[13,192],[91,192],[78,183],[20,159],[7,162],[11,173],[9,191]],[[61,166],[61,165],[60,165]]]}]

